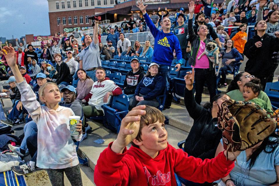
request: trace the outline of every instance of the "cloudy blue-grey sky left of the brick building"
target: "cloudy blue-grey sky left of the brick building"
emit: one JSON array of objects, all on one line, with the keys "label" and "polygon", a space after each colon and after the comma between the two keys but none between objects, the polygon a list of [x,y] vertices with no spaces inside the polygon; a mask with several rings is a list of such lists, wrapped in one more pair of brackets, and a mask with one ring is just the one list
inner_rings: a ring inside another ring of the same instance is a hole
[{"label": "cloudy blue-grey sky left of the brick building", "polygon": [[47,0],[0,0],[0,37],[50,35]]}]

